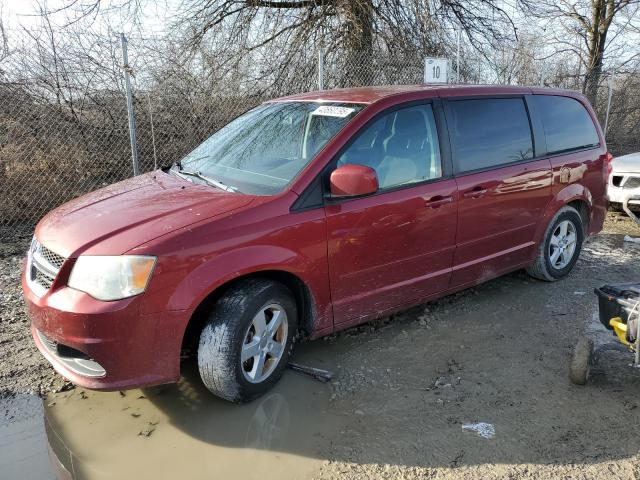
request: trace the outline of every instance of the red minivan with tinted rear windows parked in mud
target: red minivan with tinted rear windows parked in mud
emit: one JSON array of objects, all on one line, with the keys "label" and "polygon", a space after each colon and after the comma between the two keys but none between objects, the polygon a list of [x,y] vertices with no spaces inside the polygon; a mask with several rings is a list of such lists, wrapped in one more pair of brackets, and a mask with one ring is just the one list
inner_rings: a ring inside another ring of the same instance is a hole
[{"label": "red minivan with tinted rear windows parked in mud", "polygon": [[294,338],[526,268],[553,281],[602,228],[611,155],[586,99],[527,87],[267,102],[171,167],[38,224],[22,286],[55,369],[99,390],[202,381],[248,401]]}]

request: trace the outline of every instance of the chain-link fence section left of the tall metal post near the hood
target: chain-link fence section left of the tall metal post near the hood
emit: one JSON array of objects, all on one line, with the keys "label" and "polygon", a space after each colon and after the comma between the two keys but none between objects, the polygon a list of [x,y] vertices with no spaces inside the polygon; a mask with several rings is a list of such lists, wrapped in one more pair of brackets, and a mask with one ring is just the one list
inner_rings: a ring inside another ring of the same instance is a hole
[{"label": "chain-link fence section left of the tall metal post near the hood", "polygon": [[119,92],[82,111],[0,84],[0,226],[31,229],[52,207],[131,175]]}]

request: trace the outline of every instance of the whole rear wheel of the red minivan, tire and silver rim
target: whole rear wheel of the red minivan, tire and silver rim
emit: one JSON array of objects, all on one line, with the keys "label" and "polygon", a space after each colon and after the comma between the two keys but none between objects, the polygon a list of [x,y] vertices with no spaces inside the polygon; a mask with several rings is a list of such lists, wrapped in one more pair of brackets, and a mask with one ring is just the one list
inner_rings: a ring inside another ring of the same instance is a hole
[{"label": "whole rear wheel of the red minivan, tire and silver rim", "polygon": [[578,260],[583,240],[582,217],[575,208],[562,207],[549,222],[527,273],[548,282],[565,277]]}]

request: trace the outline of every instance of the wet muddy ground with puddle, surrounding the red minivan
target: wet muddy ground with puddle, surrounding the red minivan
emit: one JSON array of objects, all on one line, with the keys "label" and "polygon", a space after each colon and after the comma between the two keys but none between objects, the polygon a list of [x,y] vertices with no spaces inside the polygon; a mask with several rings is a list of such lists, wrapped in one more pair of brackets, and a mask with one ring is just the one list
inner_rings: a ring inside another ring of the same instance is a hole
[{"label": "wet muddy ground with puddle, surrounding the red minivan", "polygon": [[[64,382],[29,340],[18,285],[26,243],[5,245],[0,478],[49,475],[47,442],[78,478],[640,478],[630,357],[606,354],[585,387],[567,379],[576,337],[597,328],[593,288],[640,281],[640,244],[625,234],[640,228],[611,214],[561,282],[516,272],[299,345],[295,360],[334,381],[288,371],[241,407],[209,396],[190,364],[173,386],[34,401],[29,392]],[[463,429],[478,422],[491,438]]]}]

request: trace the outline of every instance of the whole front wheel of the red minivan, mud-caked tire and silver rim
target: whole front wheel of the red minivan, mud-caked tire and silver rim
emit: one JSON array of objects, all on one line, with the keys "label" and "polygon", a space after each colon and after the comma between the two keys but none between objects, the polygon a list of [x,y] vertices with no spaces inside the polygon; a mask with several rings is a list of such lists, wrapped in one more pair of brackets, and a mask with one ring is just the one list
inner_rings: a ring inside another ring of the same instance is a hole
[{"label": "whole front wheel of the red minivan, mud-caked tire and silver rim", "polygon": [[200,334],[198,369],[215,395],[243,403],[282,376],[297,328],[287,287],[263,279],[239,283],[214,305]]}]

